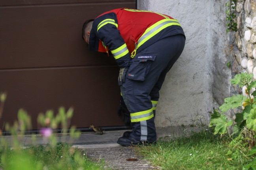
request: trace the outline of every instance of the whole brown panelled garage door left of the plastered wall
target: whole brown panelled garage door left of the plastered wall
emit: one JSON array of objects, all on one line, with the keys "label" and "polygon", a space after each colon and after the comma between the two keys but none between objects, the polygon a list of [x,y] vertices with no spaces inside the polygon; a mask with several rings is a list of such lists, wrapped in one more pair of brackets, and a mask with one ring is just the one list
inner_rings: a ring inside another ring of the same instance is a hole
[{"label": "whole brown panelled garage door left of the plastered wall", "polygon": [[24,108],[33,128],[40,112],[75,109],[72,125],[124,125],[117,116],[118,67],[88,51],[83,22],[135,0],[1,0],[0,92],[8,92],[0,127]]}]

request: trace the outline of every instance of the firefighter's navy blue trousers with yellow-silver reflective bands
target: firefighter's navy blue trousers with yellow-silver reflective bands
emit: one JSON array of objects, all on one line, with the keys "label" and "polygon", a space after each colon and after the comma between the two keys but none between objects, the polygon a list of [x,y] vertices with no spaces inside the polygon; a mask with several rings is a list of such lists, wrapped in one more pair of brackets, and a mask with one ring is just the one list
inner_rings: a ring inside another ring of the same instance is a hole
[{"label": "firefighter's navy blue trousers with yellow-silver reflective bands", "polygon": [[[152,101],[158,101],[166,73],[181,55],[184,44],[185,37],[182,34],[165,37],[137,53],[132,59],[125,82],[120,87],[130,113],[154,107]],[[153,114],[148,120],[132,121],[133,138],[139,141],[156,141],[155,110]]]}]

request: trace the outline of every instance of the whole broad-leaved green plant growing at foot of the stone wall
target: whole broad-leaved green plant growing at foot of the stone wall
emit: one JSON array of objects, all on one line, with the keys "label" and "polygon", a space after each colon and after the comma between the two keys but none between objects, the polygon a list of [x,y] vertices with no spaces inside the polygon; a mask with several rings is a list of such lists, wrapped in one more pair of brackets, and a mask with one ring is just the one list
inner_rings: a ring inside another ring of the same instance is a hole
[{"label": "whole broad-leaved green plant growing at foot of the stone wall", "polygon": [[[235,94],[232,97],[224,99],[224,104],[218,109],[214,110],[211,114],[210,127],[215,126],[215,134],[230,133],[231,127],[233,127],[232,134],[238,136],[237,138],[243,138],[241,141],[248,146],[249,155],[256,154],[255,139],[256,139],[256,80],[252,80],[253,74],[241,73],[235,75],[231,79],[231,84],[238,85],[240,88],[245,89],[244,94]],[[235,113],[234,120],[228,119],[225,112],[238,108]],[[235,138],[233,141],[239,141]],[[243,167],[244,170],[255,168],[256,158],[252,163]]]}]

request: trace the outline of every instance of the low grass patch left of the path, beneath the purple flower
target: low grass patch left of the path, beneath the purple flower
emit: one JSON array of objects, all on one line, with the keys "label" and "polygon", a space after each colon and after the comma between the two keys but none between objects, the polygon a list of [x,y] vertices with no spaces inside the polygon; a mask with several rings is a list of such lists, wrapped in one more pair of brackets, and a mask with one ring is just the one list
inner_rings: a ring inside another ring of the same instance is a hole
[{"label": "low grass patch left of the path, beneath the purple flower", "polygon": [[104,162],[94,163],[86,153],[60,142],[56,146],[5,148],[0,152],[4,170],[102,170]]}]

